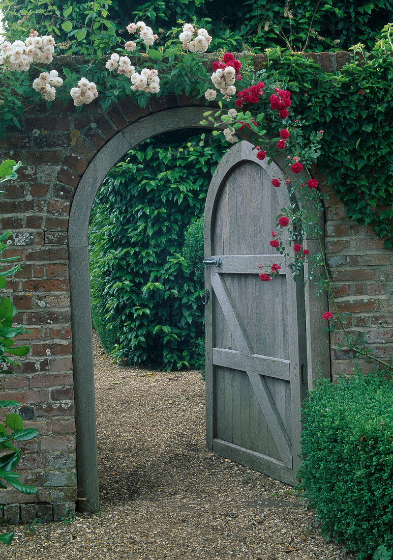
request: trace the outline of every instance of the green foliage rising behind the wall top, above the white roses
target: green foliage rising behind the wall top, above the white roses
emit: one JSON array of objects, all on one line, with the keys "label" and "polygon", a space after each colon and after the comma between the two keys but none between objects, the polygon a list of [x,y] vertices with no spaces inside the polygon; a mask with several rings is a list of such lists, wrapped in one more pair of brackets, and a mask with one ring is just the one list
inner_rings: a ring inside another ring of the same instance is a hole
[{"label": "green foliage rising behind the wall top, above the white roses", "polygon": [[57,35],[65,52],[74,54],[89,54],[97,41],[115,45],[127,36],[126,25],[140,19],[162,35],[178,22],[197,21],[214,38],[211,50],[240,52],[247,46],[255,53],[272,46],[347,50],[359,42],[372,48],[383,25],[393,20],[390,0],[1,0],[0,7],[13,38],[34,28]]}]

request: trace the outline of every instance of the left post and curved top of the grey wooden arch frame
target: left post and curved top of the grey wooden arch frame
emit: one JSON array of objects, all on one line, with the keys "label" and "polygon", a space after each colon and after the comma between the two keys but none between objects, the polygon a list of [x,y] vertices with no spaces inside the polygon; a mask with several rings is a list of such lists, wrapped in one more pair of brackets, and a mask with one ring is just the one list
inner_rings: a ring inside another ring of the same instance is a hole
[{"label": "left post and curved top of the grey wooden arch frame", "polygon": [[[93,158],[79,181],[73,199],[68,227],[68,257],[78,498],[81,500],[81,511],[94,512],[100,507],[88,254],[88,226],[94,197],[108,172],[129,150],[157,134],[183,128],[203,128],[200,123],[205,111],[205,107],[195,106],[168,109],[130,124]],[[212,125],[209,123],[205,128],[212,128]],[[313,303],[309,307],[312,307],[315,299],[310,291],[310,301],[311,298]],[[312,320],[309,320],[309,332],[311,323]]]}]

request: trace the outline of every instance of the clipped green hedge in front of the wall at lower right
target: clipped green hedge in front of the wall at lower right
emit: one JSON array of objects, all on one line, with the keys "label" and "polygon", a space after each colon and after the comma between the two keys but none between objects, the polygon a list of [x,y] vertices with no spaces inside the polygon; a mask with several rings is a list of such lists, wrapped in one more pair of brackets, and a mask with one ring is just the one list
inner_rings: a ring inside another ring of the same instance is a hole
[{"label": "clipped green hedge in front of the wall at lower right", "polygon": [[299,476],[321,529],[380,558],[377,548],[393,549],[393,382],[324,380],[303,414]]}]

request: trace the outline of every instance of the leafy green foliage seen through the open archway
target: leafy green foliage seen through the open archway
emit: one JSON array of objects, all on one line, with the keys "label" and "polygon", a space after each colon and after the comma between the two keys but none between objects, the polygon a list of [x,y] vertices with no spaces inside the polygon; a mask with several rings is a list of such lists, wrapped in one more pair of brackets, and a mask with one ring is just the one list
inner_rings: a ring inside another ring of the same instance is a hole
[{"label": "leafy green foliage seen through the open archway", "polygon": [[131,150],[103,182],[89,229],[92,306],[117,359],[168,371],[198,363],[203,283],[181,252],[223,149],[204,134],[180,145],[165,134]]}]

